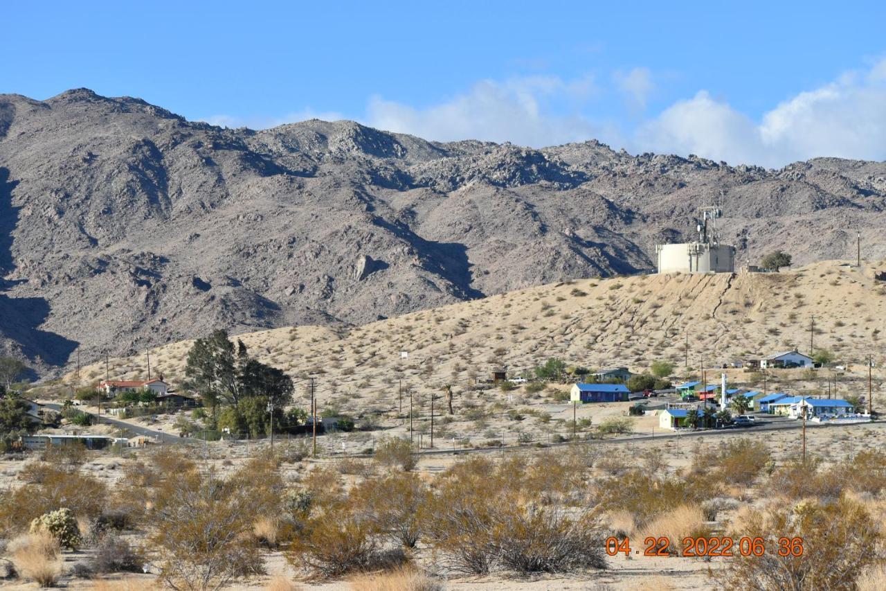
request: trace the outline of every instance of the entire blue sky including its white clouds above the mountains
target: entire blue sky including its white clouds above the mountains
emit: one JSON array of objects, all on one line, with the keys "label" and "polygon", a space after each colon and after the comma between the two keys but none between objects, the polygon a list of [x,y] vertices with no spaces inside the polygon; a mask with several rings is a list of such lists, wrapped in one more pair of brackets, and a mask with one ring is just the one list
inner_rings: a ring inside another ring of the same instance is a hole
[{"label": "entire blue sky including its white clouds above the mountains", "polygon": [[886,159],[886,3],[376,4],[7,4],[0,92],[85,86],[254,128]]}]

